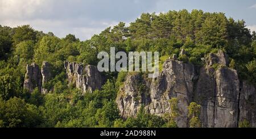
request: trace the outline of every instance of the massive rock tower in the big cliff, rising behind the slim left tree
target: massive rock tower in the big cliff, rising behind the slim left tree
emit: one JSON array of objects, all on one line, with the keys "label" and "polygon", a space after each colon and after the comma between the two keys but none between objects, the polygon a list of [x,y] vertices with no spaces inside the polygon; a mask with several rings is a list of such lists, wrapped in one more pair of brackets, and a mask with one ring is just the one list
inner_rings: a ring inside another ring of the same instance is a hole
[{"label": "massive rock tower in the big cliff, rising behind the slim left tree", "polygon": [[172,97],[178,99],[180,116],[177,117],[179,127],[187,127],[188,105],[192,101],[193,78],[195,68],[191,64],[180,61],[167,60],[163,71],[151,84],[150,113],[163,115],[170,112],[168,100]]}]

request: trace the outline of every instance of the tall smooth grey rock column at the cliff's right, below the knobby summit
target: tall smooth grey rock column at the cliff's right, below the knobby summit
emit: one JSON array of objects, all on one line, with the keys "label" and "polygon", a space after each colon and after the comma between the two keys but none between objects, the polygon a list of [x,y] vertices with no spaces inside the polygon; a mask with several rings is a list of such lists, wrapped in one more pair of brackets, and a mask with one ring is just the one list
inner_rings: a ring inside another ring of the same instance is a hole
[{"label": "tall smooth grey rock column at the cliff's right, below the knobby summit", "polygon": [[239,88],[236,70],[220,68],[216,71],[214,127],[237,127]]}]

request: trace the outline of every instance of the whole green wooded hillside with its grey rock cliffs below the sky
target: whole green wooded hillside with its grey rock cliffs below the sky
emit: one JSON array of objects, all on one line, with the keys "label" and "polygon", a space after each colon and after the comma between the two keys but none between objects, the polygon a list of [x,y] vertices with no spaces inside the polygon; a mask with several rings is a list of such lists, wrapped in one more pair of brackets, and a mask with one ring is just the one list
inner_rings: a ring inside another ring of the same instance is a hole
[{"label": "whole green wooded hillside with its grey rock cliffs below the sky", "polygon": [[[160,76],[99,72],[159,52]],[[0,127],[255,127],[256,33],[201,10],[142,14],[91,39],[0,26]]]}]

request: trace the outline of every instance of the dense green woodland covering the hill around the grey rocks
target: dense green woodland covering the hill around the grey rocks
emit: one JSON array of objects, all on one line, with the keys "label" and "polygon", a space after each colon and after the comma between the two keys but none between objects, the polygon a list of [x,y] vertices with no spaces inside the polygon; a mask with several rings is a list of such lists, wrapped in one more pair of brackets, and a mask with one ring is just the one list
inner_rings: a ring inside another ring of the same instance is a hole
[{"label": "dense green woodland covering the hill around the grey rocks", "polygon": [[[224,13],[146,13],[129,26],[120,22],[86,41],[71,34],[60,39],[29,25],[0,26],[0,127],[172,127],[170,115],[159,117],[143,110],[136,118],[121,119],[115,98],[125,79],[123,72],[104,73],[108,81],[93,93],[82,95],[68,86],[64,61],[97,65],[98,52],[109,52],[110,47],[123,52],[158,51],[160,62],[185,49],[187,56],[179,60],[197,66],[204,65],[201,58],[206,54],[222,49],[230,58],[229,67],[256,86],[256,33],[246,28],[245,21]],[[23,89],[26,65],[40,66],[43,61],[53,65],[54,78],[44,86],[54,90],[46,95],[38,89],[29,93]],[[196,127],[195,121],[191,127]]]}]

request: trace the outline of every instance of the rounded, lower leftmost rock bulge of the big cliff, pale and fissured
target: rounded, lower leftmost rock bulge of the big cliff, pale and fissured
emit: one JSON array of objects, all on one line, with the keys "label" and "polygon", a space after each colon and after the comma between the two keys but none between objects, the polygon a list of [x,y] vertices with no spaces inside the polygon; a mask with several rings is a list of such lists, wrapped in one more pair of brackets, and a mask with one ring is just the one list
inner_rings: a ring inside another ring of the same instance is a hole
[{"label": "rounded, lower leftmost rock bulge of the big cliff, pale and fissured", "polygon": [[122,117],[135,117],[142,104],[146,106],[144,107],[145,109],[148,109],[147,106],[151,102],[149,88],[150,82],[141,75],[127,75],[126,81],[120,87],[116,99]]}]

